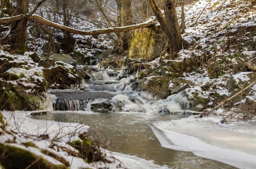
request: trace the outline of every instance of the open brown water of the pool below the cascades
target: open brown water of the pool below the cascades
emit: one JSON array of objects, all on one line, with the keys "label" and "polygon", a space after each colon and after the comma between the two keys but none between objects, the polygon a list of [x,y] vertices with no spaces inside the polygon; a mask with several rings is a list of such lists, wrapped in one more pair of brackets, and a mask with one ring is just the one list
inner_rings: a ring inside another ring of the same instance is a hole
[{"label": "open brown water of the pool below the cascades", "polygon": [[146,160],[154,160],[156,164],[166,165],[173,169],[233,169],[232,166],[197,157],[191,152],[166,149],[161,146],[149,124],[155,121],[168,121],[185,117],[188,115],[55,112],[47,117],[44,115],[37,118],[93,125],[102,130],[108,139],[111,139],[110,150]]}]

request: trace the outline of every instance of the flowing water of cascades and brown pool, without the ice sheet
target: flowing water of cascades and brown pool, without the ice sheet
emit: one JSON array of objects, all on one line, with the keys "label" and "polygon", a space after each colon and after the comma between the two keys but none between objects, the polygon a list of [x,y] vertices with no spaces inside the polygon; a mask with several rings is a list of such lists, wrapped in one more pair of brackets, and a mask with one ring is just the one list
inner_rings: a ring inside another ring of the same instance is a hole
[{"label": "flowing water of cascades and brown pool, without the ice sheet", "polygon": [[[102,73],[105,77],[111,73]],[[100,77],[102,78],[102,74]],[[97,75],[99,73],[97,72]],[[98,78],[98,79],[101,79]],[[169,121],[171,119],[180,119],[188,117],[186,114],[159,114],[154,111],[154,102],[148,102],[140,112],[112,112],[98,113],[90,111],[92,102],[95,99],[101,99],[106,106],[111,98],[117,94],[123,94],[128,97],[125,104],[129,103],[130,109],[136,104],[143,104],[142,101],[136,100],[129,88],[129,83],[116,81],[117,77],[107,77],[107,80],[94,80],[86,82],[84,90],[53,90],[50,94],[55,95],[53,107],[54,112],[48,115],[37,116],[38,119],[53,119],[59,122],[83,123],[92,125],[101,130],[108,140],[111,140],[109,150],[123,154],[129,154],[153,160],[155,164],[168,166],[177,169],[233,169],[233,166],[223,164],[218,161],[197,157],[191,152],[177,151],[163,148],[157,137],[151,129],[151,123],[158,121]],[[96,78],[97,79],[97,78]],[[132,103],[130,103],[132,101]],[[112,101],[113,102],[113,101]],[[113,110],[118,106],[114,103]],[[101,102],[97,102],[102,105]],[[124,106],[124,105],[123,105]],[[160,106],[160,105],[155,105]],[[136,107],[136,106],[135,106]],[[113,107],[112,107],[113,108]],[[107,106],[108,110],[112,110]],[[145,111],[144,109],[152,109]],[[68,111],[67,111],[68,110]],[[100,135],[100,134],[99,134]],[[138,166],[139,168],[139,166]]]}]

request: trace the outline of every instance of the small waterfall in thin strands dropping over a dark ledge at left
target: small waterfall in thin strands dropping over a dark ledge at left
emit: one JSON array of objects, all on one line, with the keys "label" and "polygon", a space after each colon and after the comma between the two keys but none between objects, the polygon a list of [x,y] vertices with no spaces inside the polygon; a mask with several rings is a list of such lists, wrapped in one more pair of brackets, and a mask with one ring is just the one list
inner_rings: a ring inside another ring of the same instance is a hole
[{"label": "small waterfall in thin strands dropping over a dark ledge at left", "polygon": [[53,109],[60,111],[84,111],[86,110],[88,102],[88,100],[57,99],[56,102],[53,103]]}]

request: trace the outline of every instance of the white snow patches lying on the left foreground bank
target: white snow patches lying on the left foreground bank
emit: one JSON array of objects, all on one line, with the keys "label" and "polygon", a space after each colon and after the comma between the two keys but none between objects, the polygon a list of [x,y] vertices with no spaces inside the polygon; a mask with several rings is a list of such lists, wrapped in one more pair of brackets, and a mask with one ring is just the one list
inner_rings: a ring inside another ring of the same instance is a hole
[{"label": "white snow patches lying on the left foreground bank", "polygon": [[[60,135],[62,137],[61,142],[59,142],[59,145],[65,146],[69,149],[74,149],[72,146],[69,146],[66,144],[65,141],[68,141],[70,139],[79,139],[77,136],[67,137],[66,135],[74,130],[80,130],[87,131],[89,126],[81,125],[78,123],[63,123],[63,122],[56,122],[52,120],[37,120],[30,118],[29,111],[16,111],[16,112],[3,112],[4,117],[6,118],[6,121],[8,122],[7,130],[12,130],[18,133],[23,134],[29,134],[29,135],[40,135],[40,134],[49,134],[50,138],[56,137],[56,135],[59,135],[59,131],[61,131]],[[111,161],[113,161],[112,164],[104,164],[102,162],[97,162],[97,164],[87,164],[84,162],[82,158],[69,156],[65,152],[57,152],[54,149],[49,149],[50,141],[48,140],[37,140],[37,139],[29,139],[22,137],[23,134],[16,135],[16,143],[12,146],[17,146],[19,148],[23,148],[26,150],[29,150],[31,152],[37,153],[39,156],[43,156],[47,160],[59,164],[60,162],[55,160],[52,157],[46,156],[42,154],[37,148],[26,148],[25,146],[20,145],[21,142],[27,142],[27,141],[33,141],[36,146],[40,149],[47,149],[50,152],[57,153],[59,156],[64,157],[69,163],[71,164],[71,169],[79,169],[79,168],[99,168],[99,167],[107,167],[107,168],[127,168],[127,169],[134,169],[138,166],[142,169],[167,169],[165,166],[159,166],[154,164],[154,161],[148,161],[144,160],[143,158],[138,158],[135,156],[129,156],[125,154],[120,154],[116,152],[109,152],[108,150],[105,150],[105,153],[107,154],[107,158]],[[66,136],[66,137],[65,137]],[[58,136],[59,137],[59,136]],[[8,139],[12,139],[12,136],[10,134],[3,134],[0,136],[0,142],[5,142]],[[76,151],[76,150],[74,150]],[[114,158],[113,158],[114,157]],[[61,164],[61,163],[60,163]]]}]

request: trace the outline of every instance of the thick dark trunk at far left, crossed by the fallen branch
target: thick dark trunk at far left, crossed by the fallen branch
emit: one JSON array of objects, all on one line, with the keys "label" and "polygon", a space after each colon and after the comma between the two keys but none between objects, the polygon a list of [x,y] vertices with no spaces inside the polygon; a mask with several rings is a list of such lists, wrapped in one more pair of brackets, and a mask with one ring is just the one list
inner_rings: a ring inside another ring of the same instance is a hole
[{"label": "thick dark trunk at far left, crossed by the fallen branch", "polygon": [[[17,9],[14,15],[26,14],[29,12],[29,0],[17,0]],[[27,19],[15,21],[11,24],[11,43],[18,53],[27,51]]]}]

